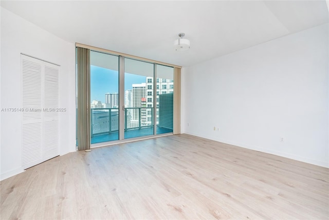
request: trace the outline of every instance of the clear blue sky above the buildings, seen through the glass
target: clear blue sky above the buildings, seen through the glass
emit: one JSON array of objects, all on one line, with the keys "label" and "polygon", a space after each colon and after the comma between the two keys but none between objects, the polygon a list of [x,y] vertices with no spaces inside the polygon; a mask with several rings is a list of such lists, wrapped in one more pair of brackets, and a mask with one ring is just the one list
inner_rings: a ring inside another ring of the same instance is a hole
[{"label": "clear blue sky above the buildings, seen through the glass", "polygon": [[[132,89],[132,84],[146,83],[146,77],[125,73],[124,90]],[[90,101],[97,100],[105,103],[105,93],[119,93],[118,71],[90,66]]]}]

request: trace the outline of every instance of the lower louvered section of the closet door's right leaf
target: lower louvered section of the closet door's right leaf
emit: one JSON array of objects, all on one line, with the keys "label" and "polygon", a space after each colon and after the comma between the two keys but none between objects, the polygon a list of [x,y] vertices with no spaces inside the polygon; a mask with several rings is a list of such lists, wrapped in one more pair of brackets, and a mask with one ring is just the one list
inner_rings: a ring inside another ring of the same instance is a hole
[{"label": "lower louvered section of the closet door's right leaf", "polygon": [[50,121],[44,124],[44,159],[59,155],[59,122]]}]

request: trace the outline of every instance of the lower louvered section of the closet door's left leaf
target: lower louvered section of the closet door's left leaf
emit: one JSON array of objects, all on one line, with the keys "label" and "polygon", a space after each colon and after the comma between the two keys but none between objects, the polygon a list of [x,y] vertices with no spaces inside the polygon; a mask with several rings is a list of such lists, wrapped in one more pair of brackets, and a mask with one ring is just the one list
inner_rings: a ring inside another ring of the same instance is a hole
[{"label": "lower louvered section of the closet door's left leaf", "polygon": [[[23,125],[23,167],[42,161],[42,123]],[[33,166],[32,165],[32,166]]]}]

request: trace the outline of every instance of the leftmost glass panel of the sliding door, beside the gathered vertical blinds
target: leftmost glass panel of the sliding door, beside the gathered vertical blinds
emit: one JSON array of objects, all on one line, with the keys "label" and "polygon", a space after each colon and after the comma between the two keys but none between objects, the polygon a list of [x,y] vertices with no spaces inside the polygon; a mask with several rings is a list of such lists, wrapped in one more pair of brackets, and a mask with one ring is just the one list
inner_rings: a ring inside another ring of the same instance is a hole
[{"label": "leftmost glass panel of the sliding door, beside the gathered vertical blinds", "polygon": [[90,51],[91,143],[119,139],[119,57]]}]

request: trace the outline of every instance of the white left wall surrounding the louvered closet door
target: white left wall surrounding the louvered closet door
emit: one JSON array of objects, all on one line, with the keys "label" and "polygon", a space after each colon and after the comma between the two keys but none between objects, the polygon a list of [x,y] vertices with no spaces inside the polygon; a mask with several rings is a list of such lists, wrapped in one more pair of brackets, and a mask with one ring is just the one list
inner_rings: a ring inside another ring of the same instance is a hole
[{"label": "white left wall surrounding the louvered closet door", "polygon": [[[21,53],[61,65],[60,154],[75,151],[75,45],[1,8],[1,106],[20,108]],[[23,171],[20,112],[1,112],[1,179]]]}]

